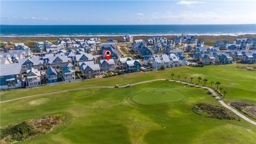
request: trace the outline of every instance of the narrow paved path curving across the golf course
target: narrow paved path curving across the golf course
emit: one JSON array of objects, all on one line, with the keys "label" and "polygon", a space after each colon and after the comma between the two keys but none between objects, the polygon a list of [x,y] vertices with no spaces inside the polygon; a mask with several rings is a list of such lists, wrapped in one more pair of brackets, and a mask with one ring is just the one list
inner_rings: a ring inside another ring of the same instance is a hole
[{"label": "narrow paved path curving across the golf course", "polygon": [[[148,83],[148,82],[154,82],[154,81],[166,81],[166,79],[153,79],[150,81],[143,81],[143,82],[138,82],[138,83],[133,83],[130,84],[132,85],[137,85],[137,84],[143,84],[143,83]],[[202,87],[203,89],[208,89],[210,92],[212,92],[213,96],[218,100],[220,99],[220,97],[210,88],[210,87],[205,87],[205,86],[199,86],[199,85],[194,85],[194,84],[190,84],[190,83],[186,83],[186,82],[181,82],[181,81],[175,81],[172,79],[169,79],[169,81],[172,82],[178,82],[178,83],[182,83],[182,84],[188,84],[188,85],[193,85],[193,86],[197,86],[197,87]],[[119,87],[126,87],[126,85],[122,85]],[[12,99],[12,100],[6,100],[6,101],[1,101],[0,103],[4,103],[4,102],[10,102],[10,101],[14,101],[14,100],[20,100],[20,99],[26,99],[26,98],[31,98],[31,97],[38,97],[41,95],[46,95],[46,94],[55,94],[55,93],[61,93],[61,92],[68,92],[68,91],[74,91],[74,90],[83,90],[83,89],[95,89],[95,88],[114,88],[114,86],[91,86],[91,87],[82,87],[82,88],[78,88],[78,89],[70,89],[70,90],[63,90],[63,91],[58,91],[58,92],[50,92],[50,93],[42,93],[42,94],[34,94],[34,95],[29,95],[27,97],[22,97],[22,98],[17,98],[17,99]],[[238,115],[239,117],[243,118],[245,121],[256,125],[256,122],[252,121],[251,119],[247,118],[246,116],[244,116],[243,114],[239,113],[236,109],[228,106],[225,102],[223,102],[222,100],[218,100],[220,102],[220,104],[223,107],[228,108],[229,110],[233,111],[233,113],[235,113],[236,115]]]}]

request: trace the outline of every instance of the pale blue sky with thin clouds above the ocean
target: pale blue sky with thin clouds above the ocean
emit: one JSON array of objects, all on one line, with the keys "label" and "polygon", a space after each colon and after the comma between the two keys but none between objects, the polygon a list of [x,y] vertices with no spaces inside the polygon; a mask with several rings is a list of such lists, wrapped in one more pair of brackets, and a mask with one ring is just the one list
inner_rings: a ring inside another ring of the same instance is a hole
[{"label": "pale blue sky with thin clouds above the ocean", "polygon": [[0,1],[2,25],[256,23],[256,1]]}]

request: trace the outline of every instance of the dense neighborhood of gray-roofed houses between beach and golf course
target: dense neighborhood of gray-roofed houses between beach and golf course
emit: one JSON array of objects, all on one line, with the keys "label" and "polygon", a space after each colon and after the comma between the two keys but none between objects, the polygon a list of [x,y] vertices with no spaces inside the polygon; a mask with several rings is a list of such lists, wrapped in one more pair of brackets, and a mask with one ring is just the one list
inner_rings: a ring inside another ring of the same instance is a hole
[{"label": "dense neighborhood of gray-roofed houses between beach and golf course", "polygon": [[[109,60],[105,51],[111,52]],[[59,38],[55,43],[35,42],[30,49],[24,43],[6,41],[1,47],[1,90],[83,81],[140,71],[164,70],[180,66],[255,63],[256,38],[218,40],[205,45],[196,36],[174,39],[149,37],[133,39],[125,35],[121,42],[113,38]]]}]

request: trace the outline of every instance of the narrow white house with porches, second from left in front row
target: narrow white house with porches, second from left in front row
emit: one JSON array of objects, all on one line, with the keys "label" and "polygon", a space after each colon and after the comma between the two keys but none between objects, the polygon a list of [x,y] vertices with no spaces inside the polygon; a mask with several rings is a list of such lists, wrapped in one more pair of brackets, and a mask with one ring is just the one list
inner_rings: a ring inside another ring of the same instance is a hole
[{"label": "narrow white house with porches, second from left in front row", "polygon": [[38,69],[27,70],[26,87],[34,87],[41,84],[41,73]]}]

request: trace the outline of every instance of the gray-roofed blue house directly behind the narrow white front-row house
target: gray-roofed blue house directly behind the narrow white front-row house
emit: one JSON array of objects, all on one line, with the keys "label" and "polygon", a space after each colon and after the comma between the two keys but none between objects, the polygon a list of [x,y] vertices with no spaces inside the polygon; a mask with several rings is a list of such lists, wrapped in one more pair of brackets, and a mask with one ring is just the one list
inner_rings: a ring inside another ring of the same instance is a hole
[{"label": "gray-roofed blue house directly behind the narrow white front-row house", "polygon": [[38,70],[44,69],[44,61],[39,58],[30,58],[30,59],[19,59],[18,63],[22,71],[27,71],[28,69],[34,68]]}]

